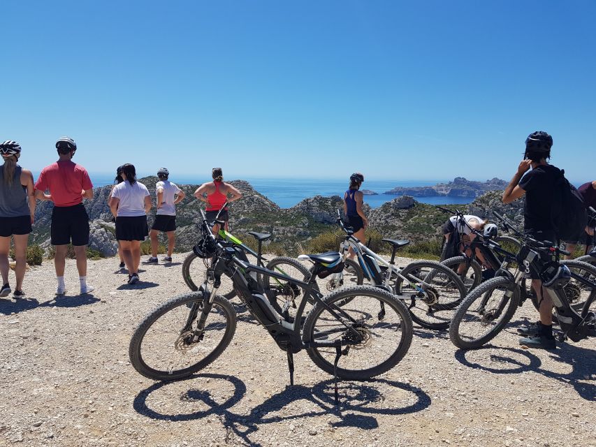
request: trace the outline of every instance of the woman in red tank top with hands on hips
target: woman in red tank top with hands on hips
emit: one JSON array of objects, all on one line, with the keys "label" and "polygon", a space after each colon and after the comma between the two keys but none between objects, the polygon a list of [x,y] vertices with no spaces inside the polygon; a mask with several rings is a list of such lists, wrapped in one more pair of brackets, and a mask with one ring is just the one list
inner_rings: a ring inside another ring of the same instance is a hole
[{"label": "woman in red tank top with hands on hips", "polygon": [[[205,208],[205,217],[209,223],[217,220],[224,221],[224,228],[228,230],[228,207],[224,207],[226,203],[235,202],[242,198],[242,193],[235,189],[229,183],[224,182],[224,174],[221,168],[213,168],[211,172],[212,182],[203,183],[194,191],[194,196],[205,202],[207,207]],[[222,209],[223,208],[223,209]],[[219,224],[216,223],[212,227],[213,234],[219,233]]]}]

